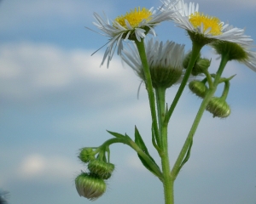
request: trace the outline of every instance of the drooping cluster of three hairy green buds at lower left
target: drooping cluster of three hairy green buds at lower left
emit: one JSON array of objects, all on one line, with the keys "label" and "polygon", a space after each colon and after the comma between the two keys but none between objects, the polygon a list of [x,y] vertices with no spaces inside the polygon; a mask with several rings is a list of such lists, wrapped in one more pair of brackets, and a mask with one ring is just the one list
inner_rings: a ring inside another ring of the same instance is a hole
[{"label": "drooping cluster of three hairy green buds at lower left", "polygon": [[[76,189],[80,196],[91,201],[102,196],[106,189],[106,179],[110,178],[114,165],[106,161],[105,157],[95,157],[96,151],[92,148],[83,148],[79,153],[79,159],[87,164],[88,172],[82,172],[75,178]],[[104,155],[104,154],[103,154]]]}]

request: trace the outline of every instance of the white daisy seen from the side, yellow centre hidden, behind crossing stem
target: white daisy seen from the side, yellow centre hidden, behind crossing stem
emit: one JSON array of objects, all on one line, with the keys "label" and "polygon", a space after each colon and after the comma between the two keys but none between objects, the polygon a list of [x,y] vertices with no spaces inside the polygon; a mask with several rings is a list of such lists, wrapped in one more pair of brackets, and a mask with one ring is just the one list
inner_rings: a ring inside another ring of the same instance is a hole
[{"label": "white daisy seen from the side, yellow centre hidden, behind crossing stem", "polygon": [[[145,43],[150,75],[154,88],[170,88],[183,74],[184,45],[150,39]],[[143,65],[135,44],[121,53],[121,58],[145,81]]]}]

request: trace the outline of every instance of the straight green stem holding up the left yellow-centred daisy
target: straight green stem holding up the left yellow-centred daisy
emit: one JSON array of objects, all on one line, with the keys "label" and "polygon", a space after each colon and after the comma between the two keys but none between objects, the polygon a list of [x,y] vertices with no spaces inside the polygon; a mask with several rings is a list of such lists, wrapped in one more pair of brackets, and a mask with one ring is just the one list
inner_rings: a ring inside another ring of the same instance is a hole
[{"label": "straight green stem holding up the left yellow-centred daisy", "polygon": [[148,67],[148,60],[147,60],[147,56],[144,48],[144,39],[142,38],[141,42],[135,40],[135,43],[137,45],[137,50],[138,50],[138,53],[140,54],[140,58],[142,59],[143,71],[145,76],[145,85],[148,91],[149,106],[151,111],[153,127],[154,127],[155,139],[157,144],[160,145],[160,135],[159,135],[158,125],[157,125],[157,116],[156,116],[156,110],[155,110],[156,107],[155,107],[154,89],[153,89],[150,71]]}]

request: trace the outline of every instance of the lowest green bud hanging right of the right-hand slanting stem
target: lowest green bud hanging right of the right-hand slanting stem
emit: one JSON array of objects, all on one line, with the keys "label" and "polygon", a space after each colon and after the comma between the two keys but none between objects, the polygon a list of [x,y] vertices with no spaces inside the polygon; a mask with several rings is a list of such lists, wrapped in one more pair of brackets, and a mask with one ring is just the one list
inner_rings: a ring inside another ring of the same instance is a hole
[{"label": "lowest green bud hanging right of the right-hand slanting stem", "polygon": [[207,111],[213,114],[213,117],[218,116],[221,118],[230,116],[230,105],[227,104],[225,99],[212,97],[207,105]]}]

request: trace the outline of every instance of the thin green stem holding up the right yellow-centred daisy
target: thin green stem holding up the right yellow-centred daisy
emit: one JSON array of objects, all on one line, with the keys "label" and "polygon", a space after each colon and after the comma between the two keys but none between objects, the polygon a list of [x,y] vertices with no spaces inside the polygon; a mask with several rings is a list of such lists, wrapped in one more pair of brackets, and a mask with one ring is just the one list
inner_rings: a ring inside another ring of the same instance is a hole
[{"label": "thin green stem holding up the right yellow-centred daisy", "polygon": [[174,111],[176,105],[177,105],[177,102],[179,100],[179,98],[181,97],[181,95],[183,94],[183,90],[189,80],[189,76],[191,74],[191,71],[195,65],[195,61],[196,59],[198,58],[199,54],[200,54],[200,51],[201,51],[201,48],[204,46],[204,44],[199,44],[197,42],[193,42],[192,43],[192,51],[191,51],[191,56],[190,56],[190,60],[189,60],[189,65],[187,67],[187,70],[185,72],[185,75],[183,77],[183,81],[181,82],[178,90],[177,90],[177,94],[175,95],[175,98],[173,99],[172,101],[172,105],[169,109],[169,111],[167,112],[166,114],[166,120],[165,122],[168,123],[171,116],[172,116],[172,112]]}]

